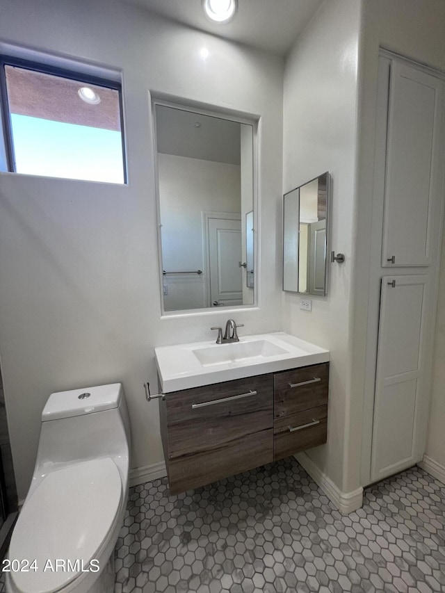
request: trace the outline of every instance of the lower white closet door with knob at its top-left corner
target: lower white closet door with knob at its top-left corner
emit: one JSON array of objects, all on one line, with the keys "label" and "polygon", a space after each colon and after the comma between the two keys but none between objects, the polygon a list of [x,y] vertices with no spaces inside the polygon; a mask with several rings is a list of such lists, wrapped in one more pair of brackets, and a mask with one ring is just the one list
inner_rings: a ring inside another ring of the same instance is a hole
[{"label": "lower white closet door with knob at its top-left corner", "polygon": [[427,275],[382,277],[371,479],[421,459]]}]

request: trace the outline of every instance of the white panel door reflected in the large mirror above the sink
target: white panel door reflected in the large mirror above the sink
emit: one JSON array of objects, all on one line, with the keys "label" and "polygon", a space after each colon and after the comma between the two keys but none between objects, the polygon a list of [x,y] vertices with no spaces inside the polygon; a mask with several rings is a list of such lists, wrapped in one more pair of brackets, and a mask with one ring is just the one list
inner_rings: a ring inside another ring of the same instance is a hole
[{"label": "white panel door reflected in the large mirror above the sink", "polygon": [[209,218],[209,257],[211,306],[243,304],[241,220]]}]

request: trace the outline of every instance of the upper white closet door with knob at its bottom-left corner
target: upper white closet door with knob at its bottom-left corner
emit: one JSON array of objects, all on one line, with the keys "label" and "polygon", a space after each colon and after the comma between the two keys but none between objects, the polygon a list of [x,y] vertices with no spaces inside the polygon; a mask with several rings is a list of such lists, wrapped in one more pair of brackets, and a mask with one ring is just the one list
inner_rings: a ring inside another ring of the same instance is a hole
[{"label": "upper white closet door with knob at its bottom-left corner", "polygon": [[442,81],[391,62],[382,266],[431,262]]}]

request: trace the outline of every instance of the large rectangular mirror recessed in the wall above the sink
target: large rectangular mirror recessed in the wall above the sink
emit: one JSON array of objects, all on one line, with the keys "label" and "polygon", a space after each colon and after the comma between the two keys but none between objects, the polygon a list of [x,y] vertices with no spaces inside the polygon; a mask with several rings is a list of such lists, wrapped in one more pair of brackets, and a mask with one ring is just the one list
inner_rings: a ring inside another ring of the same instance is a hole
[{"label": "large rectangular mirror recessed in the wall above the sink", "polygon": [[253,304],[245,216],[253,127],[155,104],[163,309]]}]

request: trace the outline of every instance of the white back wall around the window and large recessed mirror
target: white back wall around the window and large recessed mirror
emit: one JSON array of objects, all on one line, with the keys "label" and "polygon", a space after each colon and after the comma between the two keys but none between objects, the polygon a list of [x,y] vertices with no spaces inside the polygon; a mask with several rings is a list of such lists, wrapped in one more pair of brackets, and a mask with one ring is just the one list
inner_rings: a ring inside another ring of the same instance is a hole
[{"label": "white back wall around the window and large recessed mirror", "polygon": [[[149,91],[259,115],[259,309],[280,330],[282,60],[113,0],[0,0],[0,40],[122,70],[128,186],[0,174],[0,356],[19,498],[52,391],[122,381],[133,468],[163,459],[154,346],[211,339],[227,311],[161,318]],[[202,58],[205,46],[209,56]]]}]

